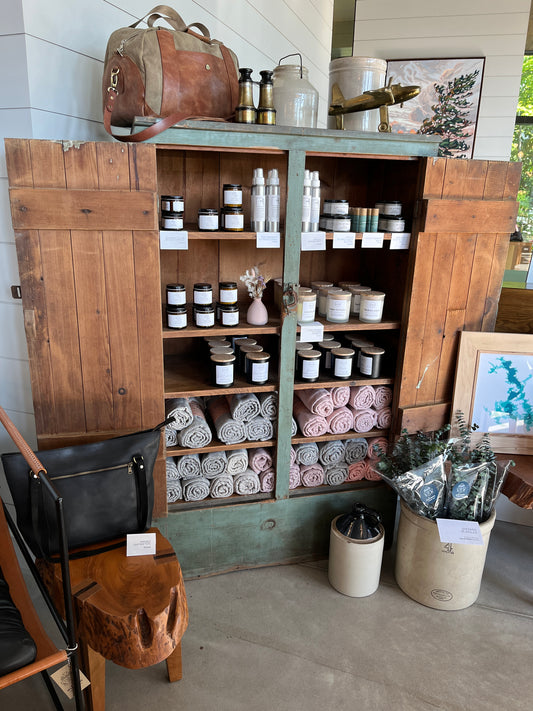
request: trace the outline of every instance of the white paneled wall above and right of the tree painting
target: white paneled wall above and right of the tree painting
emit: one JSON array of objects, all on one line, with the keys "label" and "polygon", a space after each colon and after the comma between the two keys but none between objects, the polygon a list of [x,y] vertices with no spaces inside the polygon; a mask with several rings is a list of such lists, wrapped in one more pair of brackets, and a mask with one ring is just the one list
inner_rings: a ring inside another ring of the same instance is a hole
[{"label": "white paneled wall above and right of the tree painting", "polygon": [[474,158],[508,160],[531,0],[358,0],[354,54],[486,57]]}]

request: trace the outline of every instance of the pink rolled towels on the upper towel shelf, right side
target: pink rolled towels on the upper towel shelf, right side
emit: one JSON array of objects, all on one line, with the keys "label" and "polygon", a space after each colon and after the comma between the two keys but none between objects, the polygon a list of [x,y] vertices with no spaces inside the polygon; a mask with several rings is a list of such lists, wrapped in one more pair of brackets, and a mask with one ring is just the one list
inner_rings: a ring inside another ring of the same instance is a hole
[{"label": "pink rolled towels on the upper towel shelf, right side", "polygon": [[304,437],[358,434],[391,425],[392,390],[387,385],[296,390],[293,417]]}]

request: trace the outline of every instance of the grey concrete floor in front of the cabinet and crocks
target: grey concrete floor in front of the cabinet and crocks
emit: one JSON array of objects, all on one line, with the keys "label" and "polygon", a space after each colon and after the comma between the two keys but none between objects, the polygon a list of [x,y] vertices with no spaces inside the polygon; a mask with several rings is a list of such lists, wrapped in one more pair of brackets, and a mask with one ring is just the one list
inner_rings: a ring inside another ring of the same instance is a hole
[{"label": "grey concrete floor in front of the cabinet and crocks", "polygon": [[[169,684],[164,663],[108,662],[106,708],[531,711],[533,528],[496,522],[479,598],[465,610],[414,602],[393,570],[388,551],[367,598],[336,592],[326,561],[189,581],[183,679]],[[33,678],[0,692],[0,708],[53,706]]]}]

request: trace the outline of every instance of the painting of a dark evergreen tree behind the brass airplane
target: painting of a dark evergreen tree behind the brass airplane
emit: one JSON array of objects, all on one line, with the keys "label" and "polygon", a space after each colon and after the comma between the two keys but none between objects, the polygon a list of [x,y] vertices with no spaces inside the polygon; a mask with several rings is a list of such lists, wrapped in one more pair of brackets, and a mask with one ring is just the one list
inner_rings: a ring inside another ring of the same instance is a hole
[{"label": "painting of a dark evergreen tree behind the brass airplane", "polygon": [[392,132],[442,136],[440,156],[471,158],[484,66],[484,57],[389,60],[387,83],[420,87],[403,107],[389,106]]}]

